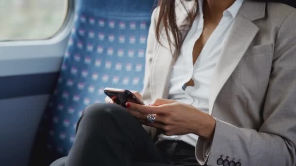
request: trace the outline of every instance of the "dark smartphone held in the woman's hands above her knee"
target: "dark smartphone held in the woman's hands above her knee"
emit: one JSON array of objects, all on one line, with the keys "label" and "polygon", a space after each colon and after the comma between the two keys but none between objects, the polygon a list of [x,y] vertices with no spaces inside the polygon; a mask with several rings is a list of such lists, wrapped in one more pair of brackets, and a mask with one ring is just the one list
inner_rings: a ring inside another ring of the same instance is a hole
[{"label": "dark smartphone held in the woman's hands above her knee", "polygon": [[111,100],[116,104],[126,107],[126,102],[134,102],[137,104],[145,105],[141,100],[139,100],[132,92],[125,89],[116,89],[106,87],[104,92]]}]

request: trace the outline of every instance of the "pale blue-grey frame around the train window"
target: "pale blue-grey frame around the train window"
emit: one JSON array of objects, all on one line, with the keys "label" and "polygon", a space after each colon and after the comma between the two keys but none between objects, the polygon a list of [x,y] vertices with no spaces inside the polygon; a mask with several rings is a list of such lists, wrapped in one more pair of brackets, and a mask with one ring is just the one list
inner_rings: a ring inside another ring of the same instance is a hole
[{"label": "pale blue-grey frame around the train window", "polygon": [[[74,26],[75,0],[68,0],[65,21],[48,39],[0,41],[0,77],[58,72]],[[40,64],[45,64],[40,67]],[[18,67],[14,67],[14,66]]]}]

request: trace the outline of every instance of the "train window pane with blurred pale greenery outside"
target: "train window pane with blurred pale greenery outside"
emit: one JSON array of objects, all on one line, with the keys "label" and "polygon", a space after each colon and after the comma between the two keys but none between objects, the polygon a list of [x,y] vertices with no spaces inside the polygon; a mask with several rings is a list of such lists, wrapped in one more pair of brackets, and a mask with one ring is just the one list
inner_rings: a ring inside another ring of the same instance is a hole
[{"label": "train window pane with blurred pale greenery outside", "polygon": [[68,0],[0,0],[0,41],[48,39],[67,11]]}]

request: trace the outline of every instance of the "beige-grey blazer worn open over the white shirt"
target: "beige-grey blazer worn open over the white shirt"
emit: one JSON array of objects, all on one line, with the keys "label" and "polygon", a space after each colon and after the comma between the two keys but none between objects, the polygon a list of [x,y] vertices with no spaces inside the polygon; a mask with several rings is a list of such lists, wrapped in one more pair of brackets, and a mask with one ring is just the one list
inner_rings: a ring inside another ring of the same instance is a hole
[{"label": "beige-grey blazer worn open over the white shirt", "polygon": [[[185,11],[178,2],[176,6],[181,25]],[[167,98],[171,71],[166,35],[160,39],[163,46],[155,38],[157,15],[158,8],[148,34],[146,103]],[[183,37],[188,30],[181,28]],[[199,138],[197,160],[217,166],[222,156],[241,166],[296,166],[296,9],[245,0],[220,56],[209,96],[209,112],[216,118],[214,138]],[[154,128],[145,129],[155,136]]]}]

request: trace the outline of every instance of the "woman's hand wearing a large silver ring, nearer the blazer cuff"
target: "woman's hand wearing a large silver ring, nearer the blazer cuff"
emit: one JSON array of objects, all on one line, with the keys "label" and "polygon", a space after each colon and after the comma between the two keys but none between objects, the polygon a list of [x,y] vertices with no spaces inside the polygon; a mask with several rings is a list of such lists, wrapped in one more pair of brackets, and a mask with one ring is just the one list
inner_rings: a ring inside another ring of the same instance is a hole
[{"label": "woman's hand wearing a large silver ring, nearer the blazer cuff", "polygon": [[[216,120],[195,107],[175,100],[157,99],[150,105],[127,102],[128,111],[142,124],[155,127],[165,135],[194,133],[204,139],[213,137]],[[148,114],[156,114],[154,123],[146,121]]]}]

